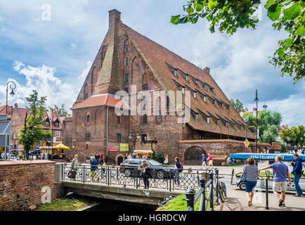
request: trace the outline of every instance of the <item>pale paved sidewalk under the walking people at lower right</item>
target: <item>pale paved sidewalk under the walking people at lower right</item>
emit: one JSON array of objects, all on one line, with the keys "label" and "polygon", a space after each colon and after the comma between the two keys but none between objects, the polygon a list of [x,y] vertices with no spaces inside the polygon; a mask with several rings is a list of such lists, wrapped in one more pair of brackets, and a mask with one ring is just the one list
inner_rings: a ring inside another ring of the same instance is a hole
[{"label": "pale paved sidewalk under the walking people at lower right", "polygon": [[254,193],[253,206],[248,207],[245,191],[237,188],[227,188],[227,199],[225,203],[216,207],[219,211],[304,211],[305,197],[294,197],[293,194],[286,194],[286,207],[279,207],[278,200],[273,193],[268,193],[268,206],[266,210],[266,193],[257,191]]}]

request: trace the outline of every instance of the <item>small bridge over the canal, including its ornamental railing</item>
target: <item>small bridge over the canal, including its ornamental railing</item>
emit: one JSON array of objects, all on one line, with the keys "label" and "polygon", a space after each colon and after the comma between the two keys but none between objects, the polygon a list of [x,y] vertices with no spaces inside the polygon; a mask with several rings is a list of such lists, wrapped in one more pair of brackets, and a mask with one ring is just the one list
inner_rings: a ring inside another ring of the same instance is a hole
[{"label": "small bridge over the canal, including its ornamental railing", "polygon": [[199,190],[199,179],[207,177],[210,172],[201,169],[185,170],[180,174],[180,184],[176,184],[171,175],[164,179],[151,177],[150,188],[144,189],[141,177],[126,176],[119,167],[98,166],[94,176],[91,176],[90,165],[80,165],[74,179],[67,176],[70,167],[71,165],[63,163],[56,164],[57,195],[74,191],[78,195],[148,205],[158,205],[159,200],[162,202],[169,194],[174,196],[184,194],[188,188]]}]

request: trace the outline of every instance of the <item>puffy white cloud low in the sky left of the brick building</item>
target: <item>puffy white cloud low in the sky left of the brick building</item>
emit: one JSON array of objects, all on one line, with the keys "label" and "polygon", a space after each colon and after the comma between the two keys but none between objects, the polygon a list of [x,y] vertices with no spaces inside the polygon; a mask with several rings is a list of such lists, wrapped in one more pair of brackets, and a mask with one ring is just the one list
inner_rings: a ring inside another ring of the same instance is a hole
[{"label": "puffy white cloud low in the sky left of the brick building", "polygon": [[[16,84],[15,96],[8,98],[8,104],[14,105],[18,103],[19,107],[25,107],[26,97],[36,90],[39,96],[47,96],[46,106],[53,107],[53,105],[65,104],[69,109],[77,98],[77,88],[82,86],[86,75],[88,74],[92,63],[88,62],[87,67],[82,72],[82,75],[76,79],[75,83],[63,83],[61,79],[56,77],[56,69],[41,65],[41,67],[32,67],[25,65],[19,61],[13,63],[13,69],[25,79],[25,85],[20,85],[15,79],[8,79]],[[0,85],[0,97],[5,99],[6,86]],[[4,102],[2,103],[4,104]]]}]

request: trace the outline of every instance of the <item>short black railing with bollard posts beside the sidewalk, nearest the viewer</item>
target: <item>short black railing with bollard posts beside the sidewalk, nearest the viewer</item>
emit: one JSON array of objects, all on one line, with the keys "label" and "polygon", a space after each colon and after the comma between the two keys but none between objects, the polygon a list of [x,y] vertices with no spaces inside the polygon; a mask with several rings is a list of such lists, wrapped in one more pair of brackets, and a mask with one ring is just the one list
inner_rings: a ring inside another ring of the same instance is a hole
[{"label": "short black railing with bollard posts beside the sidewalk, nearest the viewer", "polygon": [[[214,211],[215,205],[220,205],[219,197],[222,192],[221,182],[219,180],[219,170],[215,169],[215,176],[212,171],[209,172],[209,181],[204,177],[200,178],[200,190],[195,196],[195,190],[193,188],[188,188],[186,190],[186,201],[187,201],[187,211],[194,211],[194,205],[197,203],[197,200],[200,198],[200,207],[199,211]],[[207,189],[209,191],[207,192]],[[207,195],[206,195],[207,193]],[[224,199],[220,198],[221,202],[224,202]]]}]

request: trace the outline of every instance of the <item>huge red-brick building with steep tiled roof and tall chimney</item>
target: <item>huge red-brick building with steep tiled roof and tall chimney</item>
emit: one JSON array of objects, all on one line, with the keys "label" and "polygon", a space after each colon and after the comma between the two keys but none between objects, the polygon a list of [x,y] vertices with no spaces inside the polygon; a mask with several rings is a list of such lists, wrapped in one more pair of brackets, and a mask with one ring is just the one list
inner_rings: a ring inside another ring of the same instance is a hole
[{"label": "huge red-brick building with steep tiled roof and tall chimney", "polygon": [[[190,120],[179,123],[178,116],[168,111],[166,115],[131,115],[130,101],[115,96],[124,90],[131,98],[131,85],[151,93],[190,91]],[[119,108],[129,108],[129,115],[115,114],[117,103]],[[245,122],[209,68],[198,68],[124,25],[117,10],[109,12],[108,33],[71,109],[72,120],[64,125],[63,139],[71,145],[70,154],[78,153],[82,161],[96,151],[122,160],[122,149],[112,151],[119,143],[128,143],[131,152],[149,149],[150,144],[144,141],[154,140],[156,152],[173,159],[181,140],[245,140]],[[247,137],[249,141],[255,139],[249,130]]]}]

